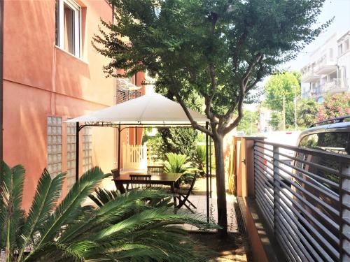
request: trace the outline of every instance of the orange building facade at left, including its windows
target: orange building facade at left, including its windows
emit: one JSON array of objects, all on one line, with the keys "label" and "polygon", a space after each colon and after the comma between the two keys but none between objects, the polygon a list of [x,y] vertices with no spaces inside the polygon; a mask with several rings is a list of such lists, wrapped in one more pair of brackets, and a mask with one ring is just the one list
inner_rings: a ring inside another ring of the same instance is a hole
[{"label": "orange building facade at left, including its windows", "polygon": [[[3,158],[25,166],[25,210],[43,168],[67,172],[64,194],[75,181],[76,128],[64,121],[117,102],[120,85],[102,71],[109,60],[91,45],[100,17],[112,20],[105,0],[4,2]],[[141,85],[142,77],[132,81]],[[133,132],[122,141],[137,143]],[[84,128],[79,140],[80,174],[116,166],[113,129]]]}]

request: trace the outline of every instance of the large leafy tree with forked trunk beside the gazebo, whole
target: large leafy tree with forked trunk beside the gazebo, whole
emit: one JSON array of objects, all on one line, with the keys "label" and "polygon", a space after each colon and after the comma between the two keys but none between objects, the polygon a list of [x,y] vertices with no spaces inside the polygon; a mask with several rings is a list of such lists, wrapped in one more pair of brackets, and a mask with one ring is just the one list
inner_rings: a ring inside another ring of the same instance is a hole
[{"label": "large leafy tree with forked trunk beside the gazebo, whole", "polygon": [[[209,134],[216,154],[220,235],[227,233],[223,138],[243,117],[255,85],[293,59],[329,22],[314,27],[324,0],[109,0],[114,24],[94,36],[116,77],[148,71],[182,105],[195,129]],[[120,73],[116,69],[123,69]],[[210,130],[183,99],[199,94]]]}]

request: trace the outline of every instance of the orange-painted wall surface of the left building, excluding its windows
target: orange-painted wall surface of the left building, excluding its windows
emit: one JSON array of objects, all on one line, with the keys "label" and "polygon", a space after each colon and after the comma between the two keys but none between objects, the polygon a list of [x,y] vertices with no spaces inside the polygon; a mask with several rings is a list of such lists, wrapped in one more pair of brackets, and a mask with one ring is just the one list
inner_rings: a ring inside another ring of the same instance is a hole
[{"label": "orange-painted wall surface of the left building, excluding its windows", "polygon": [[[102,72],[108,60],[90,44],[100,17],[112,19],[111,6],[104,0],[77,3],[82,7],[81,59],[55,46],[55,0],[4,3],[3,151],[8,165],[21,163],[27,170],[26,210],[48,164],[47,117],[65,120],[115,103],[115,80]],[[62,132],[65,171],[66,124]],[[93,165],[106,173],[114,167],[115,138],[113,129],[93,128]]]}]

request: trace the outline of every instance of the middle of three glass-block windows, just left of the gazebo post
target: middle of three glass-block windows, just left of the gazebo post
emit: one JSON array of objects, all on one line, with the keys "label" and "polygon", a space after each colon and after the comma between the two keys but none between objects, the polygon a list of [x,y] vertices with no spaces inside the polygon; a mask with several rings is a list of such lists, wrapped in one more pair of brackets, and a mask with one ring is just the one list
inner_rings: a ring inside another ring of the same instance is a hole
[{"label": "middle of three glass-block windows, just left of the gazebo post", "polygon": [[66,125],[66,172],[67,189],[76,182],[76,124]]}]

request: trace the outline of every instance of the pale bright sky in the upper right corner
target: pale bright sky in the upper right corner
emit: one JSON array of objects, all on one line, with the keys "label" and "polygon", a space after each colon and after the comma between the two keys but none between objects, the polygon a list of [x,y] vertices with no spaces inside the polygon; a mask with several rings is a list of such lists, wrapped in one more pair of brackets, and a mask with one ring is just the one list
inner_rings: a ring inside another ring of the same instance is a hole
[{"label": "pale bright sky in the upper right corner", "polygon": [[309,54],[322,45],[332,34],[339,33],[339,36],[350,30],[350,0],[326,0],[323,10],[318,17],[316,27],[324,24],[335,17],[334,21],[325,31],[320,34],[313,42],[300,52],[297,58],[286,64],[288,70],[299,71],[308,64]]}]

